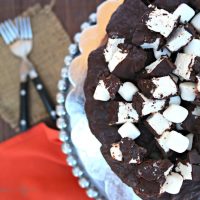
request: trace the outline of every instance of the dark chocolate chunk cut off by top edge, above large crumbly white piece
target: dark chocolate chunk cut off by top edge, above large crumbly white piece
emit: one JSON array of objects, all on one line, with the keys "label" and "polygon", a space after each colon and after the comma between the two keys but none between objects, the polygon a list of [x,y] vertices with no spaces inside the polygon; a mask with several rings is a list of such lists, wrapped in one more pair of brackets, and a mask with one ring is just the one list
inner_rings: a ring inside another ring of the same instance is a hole
[{"label": "dark chocolate chunk cut off by top edge, above large crumbly white piece", "polygon": [[[193,0],[191,0],[193,1]],[[198,1],[198,0],[197,0]],[[181,3],[188,3],[189,0],[155,0],[154,5],[159,8],[168,10],[169,12],[174,11]]]}]

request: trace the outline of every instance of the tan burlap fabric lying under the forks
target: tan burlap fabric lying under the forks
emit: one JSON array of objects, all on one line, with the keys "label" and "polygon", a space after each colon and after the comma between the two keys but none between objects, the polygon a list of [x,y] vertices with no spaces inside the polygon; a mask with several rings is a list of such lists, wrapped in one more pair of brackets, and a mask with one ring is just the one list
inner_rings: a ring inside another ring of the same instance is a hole
[{"label": "tan burlap fabric lying under the forks", "polygon": [[[68,53],[69,37],[52,12],[51,5],[41,8],[37,4],[23,15],[30,15],[32,22],[33,50],[30,59],[55,102],[60,69]],[[19,130],[19,66],[20,59],[11,54],[0,38],[0,115],[16,131]],[[48,117],[32,83],[29,84],[29,112],[31,125]]]}]

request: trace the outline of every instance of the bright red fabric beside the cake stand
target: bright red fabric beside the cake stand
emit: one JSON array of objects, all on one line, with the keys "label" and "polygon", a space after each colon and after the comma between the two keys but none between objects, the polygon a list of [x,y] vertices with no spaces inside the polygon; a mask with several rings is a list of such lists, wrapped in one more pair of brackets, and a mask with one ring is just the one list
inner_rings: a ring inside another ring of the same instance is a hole
[{"label": "bright red fabric beside the cake stand", "polygon": [[0,199],[89,199],[66,165],[57,137],[41,123],[0,144]]}]

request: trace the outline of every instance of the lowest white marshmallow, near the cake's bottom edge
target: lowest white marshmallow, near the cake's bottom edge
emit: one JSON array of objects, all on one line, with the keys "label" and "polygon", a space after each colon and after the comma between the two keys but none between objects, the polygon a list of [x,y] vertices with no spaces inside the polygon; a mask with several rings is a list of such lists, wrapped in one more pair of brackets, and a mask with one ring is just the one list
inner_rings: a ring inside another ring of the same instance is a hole
[{"label": "lowest white marshmallow, near the cake's bottom edge", "polygon": [[167,192],[169,194],[178,194],[182,185],[183,177],[178,173],[172,172],[166,177],[166,181],[161,188],[161,193]]}]

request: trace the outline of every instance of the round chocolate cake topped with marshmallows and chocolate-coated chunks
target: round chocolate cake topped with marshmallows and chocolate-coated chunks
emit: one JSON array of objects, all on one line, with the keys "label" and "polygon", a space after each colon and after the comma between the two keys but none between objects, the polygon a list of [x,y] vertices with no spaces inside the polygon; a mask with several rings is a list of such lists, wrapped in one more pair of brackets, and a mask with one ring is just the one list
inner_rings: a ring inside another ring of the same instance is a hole
[{"label": "round chocolate cake topped with marshmallows and chocolate-coated chunks", "polygon": [[125,0],[88,59],[85,110],[144,200],[200,199],[200,1]]}]

